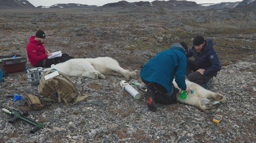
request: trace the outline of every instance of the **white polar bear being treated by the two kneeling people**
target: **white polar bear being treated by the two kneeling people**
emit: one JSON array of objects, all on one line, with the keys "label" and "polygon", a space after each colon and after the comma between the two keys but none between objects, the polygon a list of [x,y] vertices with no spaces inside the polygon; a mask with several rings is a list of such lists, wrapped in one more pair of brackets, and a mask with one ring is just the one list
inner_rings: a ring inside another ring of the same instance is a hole
[{"label": "white polar bear being treated by the two kneeling people", "polygon": [[[173,84],[178,88],[176,82],[173,80]],[[189,80],[186,80],[187,87],[194,90],[194,93],[189,93],[185,99],[180,98],[180,93],[177,94],[177,101],[186,103],[195,107],[198,107],[202,110],[206,109],[206,106],[202,103],[201,98],[214,99],[217,101],[226,102],[226,97],[220,93],[211,92],[207,89],[204,89],[200,85],[193,83]],[[178,88],[180,89],[180,88]]]}]

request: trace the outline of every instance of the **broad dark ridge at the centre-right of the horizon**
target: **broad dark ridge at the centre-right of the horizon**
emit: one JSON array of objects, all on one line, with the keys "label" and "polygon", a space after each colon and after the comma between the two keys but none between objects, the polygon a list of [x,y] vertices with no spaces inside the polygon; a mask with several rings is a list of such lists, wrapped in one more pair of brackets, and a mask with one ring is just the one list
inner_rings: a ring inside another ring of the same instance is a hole
[{"label": "broad dark ridge at the centre-right of the horizon", "polygon": [[129,3],[127,1],[119,1],[116,3],[108,3],[101,7],[103,8],[110,8],[110,7],[122,7],[122,8],[129,8],[129,7],[136,7],[136,6],[148,6],[148,7],[161,7],[161,8],[202,8],[202,6],[196,4],[196,2],[191,1],[177,1],[177,0],[169,0],[169,1],[153,1],[153,2],[132,2]]}]

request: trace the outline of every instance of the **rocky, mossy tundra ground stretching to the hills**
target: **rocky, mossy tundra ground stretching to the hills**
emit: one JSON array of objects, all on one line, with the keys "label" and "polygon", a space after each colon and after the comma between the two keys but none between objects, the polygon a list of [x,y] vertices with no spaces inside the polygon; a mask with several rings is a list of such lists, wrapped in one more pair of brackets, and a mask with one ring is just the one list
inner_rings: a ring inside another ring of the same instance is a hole
[{"label": "rocky, mossy tundra ground stretching to the hills", "polygon": [[[200,34],[215,42],[222,70],[209,90],[220,92],[226,104],[215,113],[177,103],[158,104],[149,112],[142,97],[132,98],[119,85],[123,77],[71,77],[77,88],[92,96],[75,105],[48,103],[33,111],[13,94],[38,95],[26,71],[10,73],[0,83],[0,104],[30,112],[44,127],[30,134],[32,125],[0,112],[0,142],[256,142],[255,7],[232,10],[28,9],[0,10],[1,55],[26,57],[30,35],[45,31],[45,47],[75,58],[109,56],[121,67],[137,72],[140,66],[171,43],[192,45]],[[33,68],[29,61],[26,66]],[[131,80],[127,80],[131,83]],[[39,96],[39,95],[38,95]],[[223,119],[212,122],[215,114]]]}]

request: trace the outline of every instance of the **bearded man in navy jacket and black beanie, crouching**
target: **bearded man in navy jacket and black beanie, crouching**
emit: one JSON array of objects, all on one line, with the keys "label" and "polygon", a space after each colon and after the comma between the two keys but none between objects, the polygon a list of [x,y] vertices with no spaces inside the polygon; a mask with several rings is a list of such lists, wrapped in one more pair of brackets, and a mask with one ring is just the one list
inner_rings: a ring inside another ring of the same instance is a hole
[{"label": "bearded man in navy jacket and black beanie, crouching", "polygon": [[194,61],[188,59],[187,78],[207,89],[213,76],[221,69],[221,63],[213,41],[205,40],[202,36],[196,36],[193,45],[187,53],[187,58],[194,57]]}]

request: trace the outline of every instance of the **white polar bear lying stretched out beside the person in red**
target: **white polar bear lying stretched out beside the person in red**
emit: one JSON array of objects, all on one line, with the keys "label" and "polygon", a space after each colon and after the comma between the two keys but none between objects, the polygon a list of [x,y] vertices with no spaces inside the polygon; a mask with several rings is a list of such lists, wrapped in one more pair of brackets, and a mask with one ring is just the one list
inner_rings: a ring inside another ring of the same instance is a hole
[{"label": "white polar bear lying stretched out beside the person in red", "polygon": [[78,58],[70,59],[64,63],[51,65],[50,69],[56,69],[68,76],[79,76],[97,79],[103,78],[103,74],[135,78],[136,72],[130,72],[121,68],[116,60],[110,57]]}]

